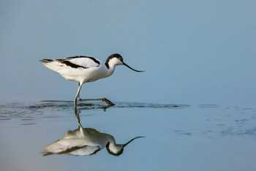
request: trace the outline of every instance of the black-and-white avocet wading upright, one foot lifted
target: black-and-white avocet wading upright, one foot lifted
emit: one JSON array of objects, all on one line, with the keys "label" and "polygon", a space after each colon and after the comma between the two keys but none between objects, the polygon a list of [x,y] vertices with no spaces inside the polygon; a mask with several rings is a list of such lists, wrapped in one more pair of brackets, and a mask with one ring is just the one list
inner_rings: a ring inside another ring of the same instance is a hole
[{"label": "black-and-white avocet wading upright, one foot lifted", "polygon": [[[113,54],[108,57],[105,63],[97,60],[94,57],[75,56],[64,59],[42,59],[42,64],[50,70],[53,70],[63,76],[69,81],[78,81],[78,90],[75,95],[75,103],[80,100],[80,90],[86,82],[97,81],[111,76],[115,71],[116,65],[125,65],[127,68],[136,72],[143,72],[135,70],[126,63],[123,57],[119,54]],[[114,104],[107,98],[99,98],[94,100],[103,100],[110,106]]]}]

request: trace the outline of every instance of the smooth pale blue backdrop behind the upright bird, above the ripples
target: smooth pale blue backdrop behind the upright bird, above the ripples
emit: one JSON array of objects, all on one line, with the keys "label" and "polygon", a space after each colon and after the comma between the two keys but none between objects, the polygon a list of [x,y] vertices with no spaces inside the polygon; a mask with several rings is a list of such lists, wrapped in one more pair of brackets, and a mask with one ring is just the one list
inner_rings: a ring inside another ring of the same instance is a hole
[{"label": "smooth pale blue backdrop behind the upright bird, above the ripples", "polygon": [[255,105],[256,1],[0,1],[0,101],[72,100],[41,58],[118,52],[83,98]]}]

